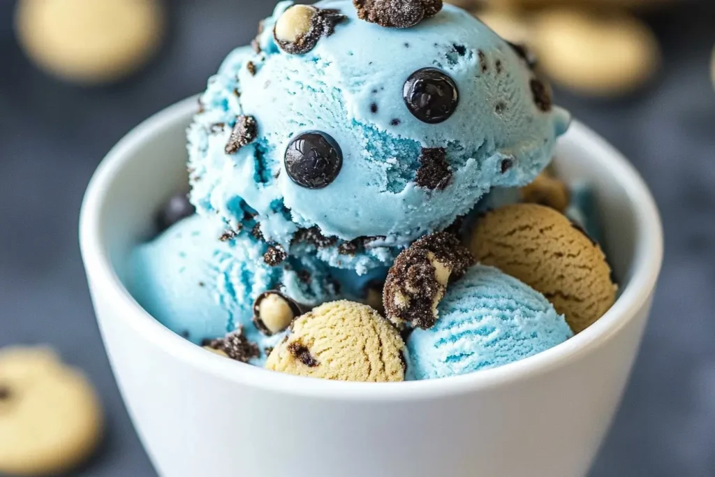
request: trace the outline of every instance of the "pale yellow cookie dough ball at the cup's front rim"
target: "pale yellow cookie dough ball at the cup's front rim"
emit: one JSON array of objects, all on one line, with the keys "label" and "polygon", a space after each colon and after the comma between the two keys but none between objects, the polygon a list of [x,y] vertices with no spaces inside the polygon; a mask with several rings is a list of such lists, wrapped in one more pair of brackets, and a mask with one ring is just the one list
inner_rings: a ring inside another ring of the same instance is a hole
[{"label": "pale yellow cookie dough ball at the cup's front rim", "polygon": [[297,318],[266,368],[298,376],[343,381],[402,381],[400,333],[368,305],[325,303]]}]

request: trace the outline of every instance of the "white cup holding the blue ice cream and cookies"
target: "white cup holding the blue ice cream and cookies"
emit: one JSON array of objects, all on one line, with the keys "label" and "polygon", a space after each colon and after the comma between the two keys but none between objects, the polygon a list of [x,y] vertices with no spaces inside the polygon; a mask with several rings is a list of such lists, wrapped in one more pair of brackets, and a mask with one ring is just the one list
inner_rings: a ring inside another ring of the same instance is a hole
[{"label": "white cup holding the blue ice cream and cookies", "polygon": [[187,99],[124,137],[84,198],[81,245],[97,320],[129,414],[164,477],[578,477],[598,451],[643,335],[663,254],[636,171],[574,123],[566,180],[588,178],[621,296],[597,323],[531,358],[408,383],[342,383],[207,353],[129,295],[124,267],[152,215],[185,187]]}]

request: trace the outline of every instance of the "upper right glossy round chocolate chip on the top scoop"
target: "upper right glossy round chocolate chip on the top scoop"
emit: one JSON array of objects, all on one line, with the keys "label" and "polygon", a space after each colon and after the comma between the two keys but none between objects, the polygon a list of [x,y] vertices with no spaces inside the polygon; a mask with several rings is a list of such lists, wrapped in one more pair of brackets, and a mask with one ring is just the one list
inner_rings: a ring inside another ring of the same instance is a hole
[{"label": "upper right glossy round chocolate chip on the top scoop", "polygon": [[436,68],[418,69],[411,74],[405,82],[403,98],[413,116],[428,124],[447,120],[459,104],[457,84]]}]

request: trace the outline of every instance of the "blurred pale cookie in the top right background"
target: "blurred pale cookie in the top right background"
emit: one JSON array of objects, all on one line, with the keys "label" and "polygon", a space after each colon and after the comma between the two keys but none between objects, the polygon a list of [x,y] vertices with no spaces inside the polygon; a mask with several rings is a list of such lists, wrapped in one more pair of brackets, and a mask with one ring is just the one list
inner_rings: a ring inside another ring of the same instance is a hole
[{"label": "blurred pale cookie in the top right background", "polygon": [[628,94],[651,79],[661,62],[653,32],[627,14],[547,10],[534,17],[532,31],[543,71],[581,94]]}]

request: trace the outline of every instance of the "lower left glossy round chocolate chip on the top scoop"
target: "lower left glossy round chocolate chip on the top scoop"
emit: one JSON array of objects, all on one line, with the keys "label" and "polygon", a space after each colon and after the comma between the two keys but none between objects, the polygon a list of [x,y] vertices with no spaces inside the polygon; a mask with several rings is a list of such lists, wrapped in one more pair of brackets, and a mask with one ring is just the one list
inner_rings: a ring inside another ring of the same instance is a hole
[{"label": "lower left glossy round chocolate chip on the top scoop", "polygon": [[342,167],[342,151],[330,135],[320,131],[298,134],[285,149],[285,170],[307,189],[321,189],[334,181]]}]

